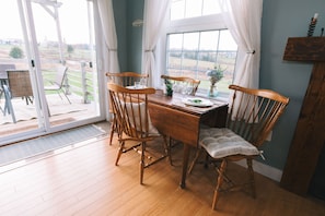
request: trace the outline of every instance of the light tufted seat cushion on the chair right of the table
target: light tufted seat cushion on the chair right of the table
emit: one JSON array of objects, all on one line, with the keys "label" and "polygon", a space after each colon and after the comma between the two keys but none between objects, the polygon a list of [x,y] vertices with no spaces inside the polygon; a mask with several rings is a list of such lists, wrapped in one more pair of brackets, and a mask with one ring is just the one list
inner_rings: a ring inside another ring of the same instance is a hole
[{"label": "light tufted seat cushion on the chair right of the table", "polygon": [[260,154],[257,147],[227,128],[201,129],[199,143],[213,158],[232,155],[255,156]]}]

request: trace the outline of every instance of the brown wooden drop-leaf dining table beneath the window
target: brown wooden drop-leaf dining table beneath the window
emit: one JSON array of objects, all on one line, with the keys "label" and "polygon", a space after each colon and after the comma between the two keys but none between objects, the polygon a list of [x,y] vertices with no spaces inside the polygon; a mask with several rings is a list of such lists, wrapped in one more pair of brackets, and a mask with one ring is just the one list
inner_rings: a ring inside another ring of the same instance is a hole
[{"label": "brown wooden drop-leaf dining table beneath the window", "polygon": [[[181,188],[185,188],[190,147],[198,147],[201,124],[223,127],[225,124],[228,103],[211,99],[209,106],[188,106],[185,99],[197,96],[173,94],[166,96],[158,89],[148,97],[149,112],[153,125],[164,135],[184,144]],[[207,99],[207,98],[202,98]]]}]

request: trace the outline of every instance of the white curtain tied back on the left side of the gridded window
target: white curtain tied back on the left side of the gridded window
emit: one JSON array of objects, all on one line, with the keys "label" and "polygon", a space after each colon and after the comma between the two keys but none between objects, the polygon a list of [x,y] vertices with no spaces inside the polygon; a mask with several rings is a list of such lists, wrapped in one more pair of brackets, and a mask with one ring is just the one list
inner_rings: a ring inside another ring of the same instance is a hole
[{"label": "white curtain tied back on the left side of the gridded window", "polygon": [[148,85],[152,87],[159,86],[160,75],[154,74],[161,72],[158,71],[154,51],[165,31],[169,11],[170,0],[144,0],[142,71],[149,74]]}]

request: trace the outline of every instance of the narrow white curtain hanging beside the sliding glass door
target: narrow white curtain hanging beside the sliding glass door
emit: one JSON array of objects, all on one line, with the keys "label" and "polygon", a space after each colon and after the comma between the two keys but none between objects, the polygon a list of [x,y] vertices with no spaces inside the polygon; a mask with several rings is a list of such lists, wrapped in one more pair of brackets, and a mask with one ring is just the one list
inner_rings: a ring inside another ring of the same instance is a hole
[{"label": "narrow white curtain hanging beside the sliding glass door", "polygon": [[97,5],[106,48],[103,49],[105,59],[102,69],[104,72],[119,72],[117,36],[112,0],[97,0]]}]

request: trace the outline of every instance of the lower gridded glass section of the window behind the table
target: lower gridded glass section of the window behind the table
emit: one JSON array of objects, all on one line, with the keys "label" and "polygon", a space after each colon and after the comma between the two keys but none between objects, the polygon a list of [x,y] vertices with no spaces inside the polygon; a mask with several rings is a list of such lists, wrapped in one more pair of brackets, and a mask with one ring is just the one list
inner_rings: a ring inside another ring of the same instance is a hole
[{"label": "lower gridded glass section of the window behind the table", "polygon": [[[218,87],[220,92],[229,92],[228,85],[233,81],[237,50],[229,31],[184,33],[184,40],[182,40],[182,34],[172,34],[169,37],[167,73],[170,75],[199,79],[201,81],[199,92],[205,93],[210,87],[207,71],[220,65],[224,69],[224,76],[218,83]],[[184,41],[183,49],[181,49],[182,41]]]}]

